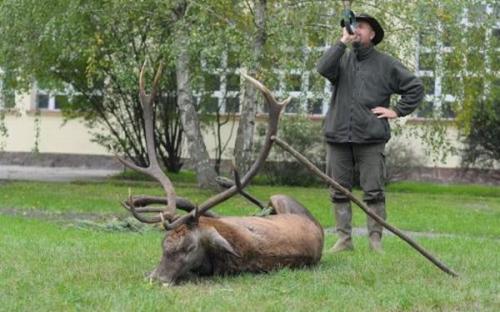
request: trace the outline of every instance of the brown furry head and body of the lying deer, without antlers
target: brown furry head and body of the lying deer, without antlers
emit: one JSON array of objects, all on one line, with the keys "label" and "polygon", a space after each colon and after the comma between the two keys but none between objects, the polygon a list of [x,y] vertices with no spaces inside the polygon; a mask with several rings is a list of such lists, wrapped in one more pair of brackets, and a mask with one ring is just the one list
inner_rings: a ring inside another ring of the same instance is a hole
[{"label": "brown furry head and body of the lying deer, without antlers", "polygon": [[271,198],[275,215],[200,217],[167,233],[164,254],[150,278],[176,283],[194,273],[221,275],[268,272],[316,264],[323,229],[306,208],[290,197]]}]

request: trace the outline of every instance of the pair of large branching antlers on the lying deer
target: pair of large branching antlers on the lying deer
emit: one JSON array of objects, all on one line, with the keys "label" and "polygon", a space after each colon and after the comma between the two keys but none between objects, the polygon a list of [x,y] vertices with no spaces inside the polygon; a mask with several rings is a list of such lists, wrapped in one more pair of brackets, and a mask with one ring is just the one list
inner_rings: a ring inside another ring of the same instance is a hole
[{"label": "pair of large branching antlers on the lying deer", "polygon": [[[254,162],[254,164],[250,167],[248,172],[241,180],[239,179],[238,174],[235,173],[236,177],[235,185],[233,185],[229,189],[219,194],[212,196],[201,205],[195,206],[188,200],[176,196],[172,182],[161,170],[158,159],[156,157],[156,148],[154,141],[154,125],[153,125],[153,119],[154,119],[153,102],[158,90],[158,83],[161,77],[162,67],[163,66],[160,65],[156,72],[150,95],[146,94],[144,86],[145,64],[142,66],[139,75],[139,87],[140,87],[139,96],[144,117],[143,118],[144,131],[146,135],[146,147],[149,157],[149,166],[143,168],[133,164],[132,162],[126,159],[123,159],[122,157],[117,156],[117,158],[125,166],[155,178],[162,185],[163,190],[167,194],[166,200],[165,198],[148,197],[148,196],[129,197],[128,201],[122,202],[122,205],[126,209],[128,209],[134,215],[134,217],[136,217],[139,221],[145,223],[163,222],[164,227],[167,230],[171,230],[180,226],[181,224],[184,224],[190,220],[198,218],[198,216],[202,214],[208,216],[214,216],[214,214],[208,212],[210,208],[231,198],[237,193],[243,192],[243,188],[245,188],[250,183],[252,178],[257,174],[257,172],[260,170],[265,160],[267,159],[273,144],[273,140],[271,138],[275,136],[278,132],[278,122],[280,114],[283,111],[284,107],[290,102],[291,98],[288,98],[282,102],[278,102],[276,98],[274,98],[274,96],[271,94],[269,89],[267,89],[262,83],[260,83],[259,81],[248,75],[243,74],[243,76],[247,80],[249,80],[257,89],[259,89],[262,92],[269,108],[268,129],[264,146],[260,151],[257,160]],[[145,207],[151,204],[167,204],[167,207],[166,209]],[[177,208],[186,210],[188,213],[184,216],[175,219]],[[148,212],[159,212],[160,214],[159,216],[156,217],[145,217],[144,215],[142,215],[142,213],[148,213]]]}]

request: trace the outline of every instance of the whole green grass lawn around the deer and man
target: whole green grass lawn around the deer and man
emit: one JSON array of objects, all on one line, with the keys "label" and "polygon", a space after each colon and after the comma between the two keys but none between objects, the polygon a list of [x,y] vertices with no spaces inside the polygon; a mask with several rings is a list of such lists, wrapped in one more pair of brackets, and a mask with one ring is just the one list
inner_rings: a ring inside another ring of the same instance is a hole
[{"label": "whole green grass lawn around the deer and man", "polygon": [[[404,230],[451,234],[416,240],[460,274],[441,273],[393,236],[385,254],[332,255],[327,235],[321,263],[304,270],[244,274],[189,282],[175,288],[148,284],[143,274],[161,255],[163,233],[105,231],[127,214],[118,201],[132,193],[161,194],[148,182],[0,184],[0,311],[499,311],[500,188],[399,183],[388,187],[388,221]],[[190,184],[177,192],[201,202],[209,192]],[[293,195],[332,226],[328,192],[320,188],[253,186]],[[359,192],[357,193],[359,195]],[[258,210],[235,198],[221,214]],[[365,217],[355,208],[355,226]]]}]

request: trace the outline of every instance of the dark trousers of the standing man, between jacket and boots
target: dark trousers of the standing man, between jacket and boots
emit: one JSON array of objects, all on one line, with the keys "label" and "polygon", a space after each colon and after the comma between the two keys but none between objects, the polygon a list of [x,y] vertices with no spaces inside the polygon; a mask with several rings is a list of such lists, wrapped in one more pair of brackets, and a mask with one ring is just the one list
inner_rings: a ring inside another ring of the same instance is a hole
[{"label": "dark trousers of the standing man, between jacket and boots", "polygon": [[[327,174],[348,190],[354,183],[354,167],[357,164],[363,200],[367,203],[383,202],[385,182],[385,143],[327,144]],[[349,199],[342,193],[332,190],[332,201],[346,202]]]}]

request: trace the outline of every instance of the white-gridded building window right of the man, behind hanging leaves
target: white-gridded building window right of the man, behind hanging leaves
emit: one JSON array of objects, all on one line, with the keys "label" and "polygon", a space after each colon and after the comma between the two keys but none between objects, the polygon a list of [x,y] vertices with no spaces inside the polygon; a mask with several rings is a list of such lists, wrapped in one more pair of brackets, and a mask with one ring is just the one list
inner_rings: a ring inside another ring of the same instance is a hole
[{"label": "white-gridded building window right of the man, behind hanging leaves", "polygon": [[[490,88],[480,77],[485,73],[497,74],[500,68],[500,21],[492,27],[484,27],[481,21],[485,14],[497,11],[498,5],[483,4],[464,9],[456,21],[464,33],[460,47],[452,46],[451,28],[447,29],[440,21],[436,25],[440,35],[419,34],[417,75],[424,83],[426,96],[416,116],[454,118],[460,96],[474,93],[478,100],[488,96]],[[451,68],[463,70],[451,73],[448,70]]]}]

